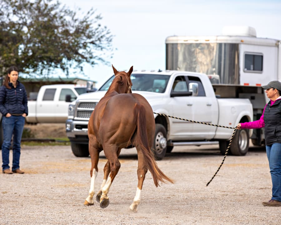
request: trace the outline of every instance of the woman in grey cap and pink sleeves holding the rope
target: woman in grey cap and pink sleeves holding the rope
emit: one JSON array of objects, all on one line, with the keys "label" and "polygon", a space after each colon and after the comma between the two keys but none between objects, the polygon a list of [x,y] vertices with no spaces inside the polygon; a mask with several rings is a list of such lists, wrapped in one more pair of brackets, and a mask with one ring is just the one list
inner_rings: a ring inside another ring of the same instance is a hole
[{"label": "woman in grey cap and pink sleeves holding the rope", "polygon": [[270,99],[259,120],[238,123],[237,129],[264,127],[266,154],[272,180],[272,197],[264,206],[281,206],[281,83],[271,81],[262,86]]}]

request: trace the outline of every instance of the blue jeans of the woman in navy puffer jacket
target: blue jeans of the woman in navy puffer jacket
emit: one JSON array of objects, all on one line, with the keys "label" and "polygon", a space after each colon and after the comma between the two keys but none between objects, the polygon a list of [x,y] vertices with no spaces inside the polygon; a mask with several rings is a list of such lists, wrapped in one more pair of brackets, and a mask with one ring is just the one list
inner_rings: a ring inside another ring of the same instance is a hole
[{"label": "blue jeans of the woman in navy puffer jacket", "polygon": [[19,168],[19,158],[21,155],[22,132],[25,123],[23,116],[11,116],[2,118],[3,144],[2,144],[2,170],[9,169],[9,154],[12,135],[13,137],[13,165],[12,171]]}]

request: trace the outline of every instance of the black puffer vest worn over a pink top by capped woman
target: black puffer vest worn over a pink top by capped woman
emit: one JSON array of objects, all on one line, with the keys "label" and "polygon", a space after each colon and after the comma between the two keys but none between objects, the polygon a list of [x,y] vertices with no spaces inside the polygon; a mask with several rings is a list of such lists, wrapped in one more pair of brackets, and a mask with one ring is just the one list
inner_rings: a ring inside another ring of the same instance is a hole
[{"label": "black puffer vest worn over a pink top by capped woman", "polygon": [[281,99],[272,106],[270,101],[264,110],[264,136],[265,144],[281,143]]}]

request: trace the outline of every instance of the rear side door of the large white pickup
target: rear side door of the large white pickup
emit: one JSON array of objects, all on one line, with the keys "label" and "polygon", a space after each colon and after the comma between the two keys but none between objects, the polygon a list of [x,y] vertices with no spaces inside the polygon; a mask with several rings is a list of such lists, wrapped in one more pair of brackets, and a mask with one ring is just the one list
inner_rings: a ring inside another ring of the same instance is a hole
[{"label": "rear side door of the large white pickup", "polygon": [[[190,110],[193,114],[193,120],[217,124],[218,121],[218,103],[216,98],[206,96],[204,87],[200,78],[188,76],[186,77],[189,83],[198,84],[198,95],[189,96]],[[194,123],[192,136],[194,140],[211,139],[215,136],[216,127]]]}]

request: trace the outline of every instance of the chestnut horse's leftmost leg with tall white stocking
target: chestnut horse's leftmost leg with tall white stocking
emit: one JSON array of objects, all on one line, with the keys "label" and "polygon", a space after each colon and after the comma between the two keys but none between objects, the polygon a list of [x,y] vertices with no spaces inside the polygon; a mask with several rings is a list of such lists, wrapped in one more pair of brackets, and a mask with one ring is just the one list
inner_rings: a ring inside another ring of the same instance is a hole
[{"label": "chestnut horse's leftmost leg with tall white stocking", "polygon": [[84,202],[84,205],[87,206],[94,204],[93,197],[95,195],[95,181],[96,181],[96,176],[98,174],[97,165],[99,162],[99,151],[96,148],[91,148],[91,146],[89,145],[89,153],[91,156],[91,171],[90,171],[91,185],[90,185],[89,195]]}]

